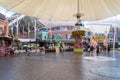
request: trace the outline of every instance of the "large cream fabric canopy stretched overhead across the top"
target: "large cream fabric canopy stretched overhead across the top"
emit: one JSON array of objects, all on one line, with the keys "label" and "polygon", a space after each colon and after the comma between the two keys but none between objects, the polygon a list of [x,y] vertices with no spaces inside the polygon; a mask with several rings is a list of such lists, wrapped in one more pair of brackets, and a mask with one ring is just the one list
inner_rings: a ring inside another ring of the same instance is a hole
[{"label": "large cream fabric canopy stretched overhead across the top", "polygon": [[[76,20],[77,0],[0,0],[8,10],[46,20]],[[120,0],[79,0],[82,20],[100,20],[120,14]]]}]

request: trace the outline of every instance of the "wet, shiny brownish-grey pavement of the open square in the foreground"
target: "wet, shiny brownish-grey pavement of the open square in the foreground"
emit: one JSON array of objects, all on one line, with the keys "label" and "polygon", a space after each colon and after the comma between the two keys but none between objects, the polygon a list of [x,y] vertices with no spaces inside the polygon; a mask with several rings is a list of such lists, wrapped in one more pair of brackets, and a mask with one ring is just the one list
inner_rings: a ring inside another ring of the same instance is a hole
[{"label": "wet, shiny brownish-grey pavement of the open square in the foreground", "polygon": [[120,80],[116,60],[84,59],[72,52],[0,57],[0,80]]}]

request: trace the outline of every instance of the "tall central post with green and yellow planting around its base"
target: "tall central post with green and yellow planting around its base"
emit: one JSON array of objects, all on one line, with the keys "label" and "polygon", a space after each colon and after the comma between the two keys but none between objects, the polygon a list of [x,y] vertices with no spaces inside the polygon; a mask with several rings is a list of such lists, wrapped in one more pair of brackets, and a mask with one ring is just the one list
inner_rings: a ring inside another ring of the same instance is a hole
[{"label": "tall central post with green and yellow planting around its base", "polygon": [[81,16],[83,16],[83,13],[80,13],[79,11],[79,0],[77,0],[77,13],[73,15],[77,18],[77,23],[75,23],[75,26],[78,27],[78,30],[72,32],[72,37],[75,39],[74,43],[74,53],[83,53],[83,46],[82,46],[82,37],[85,36],[85,31],[80,30],[81,26]]}]

